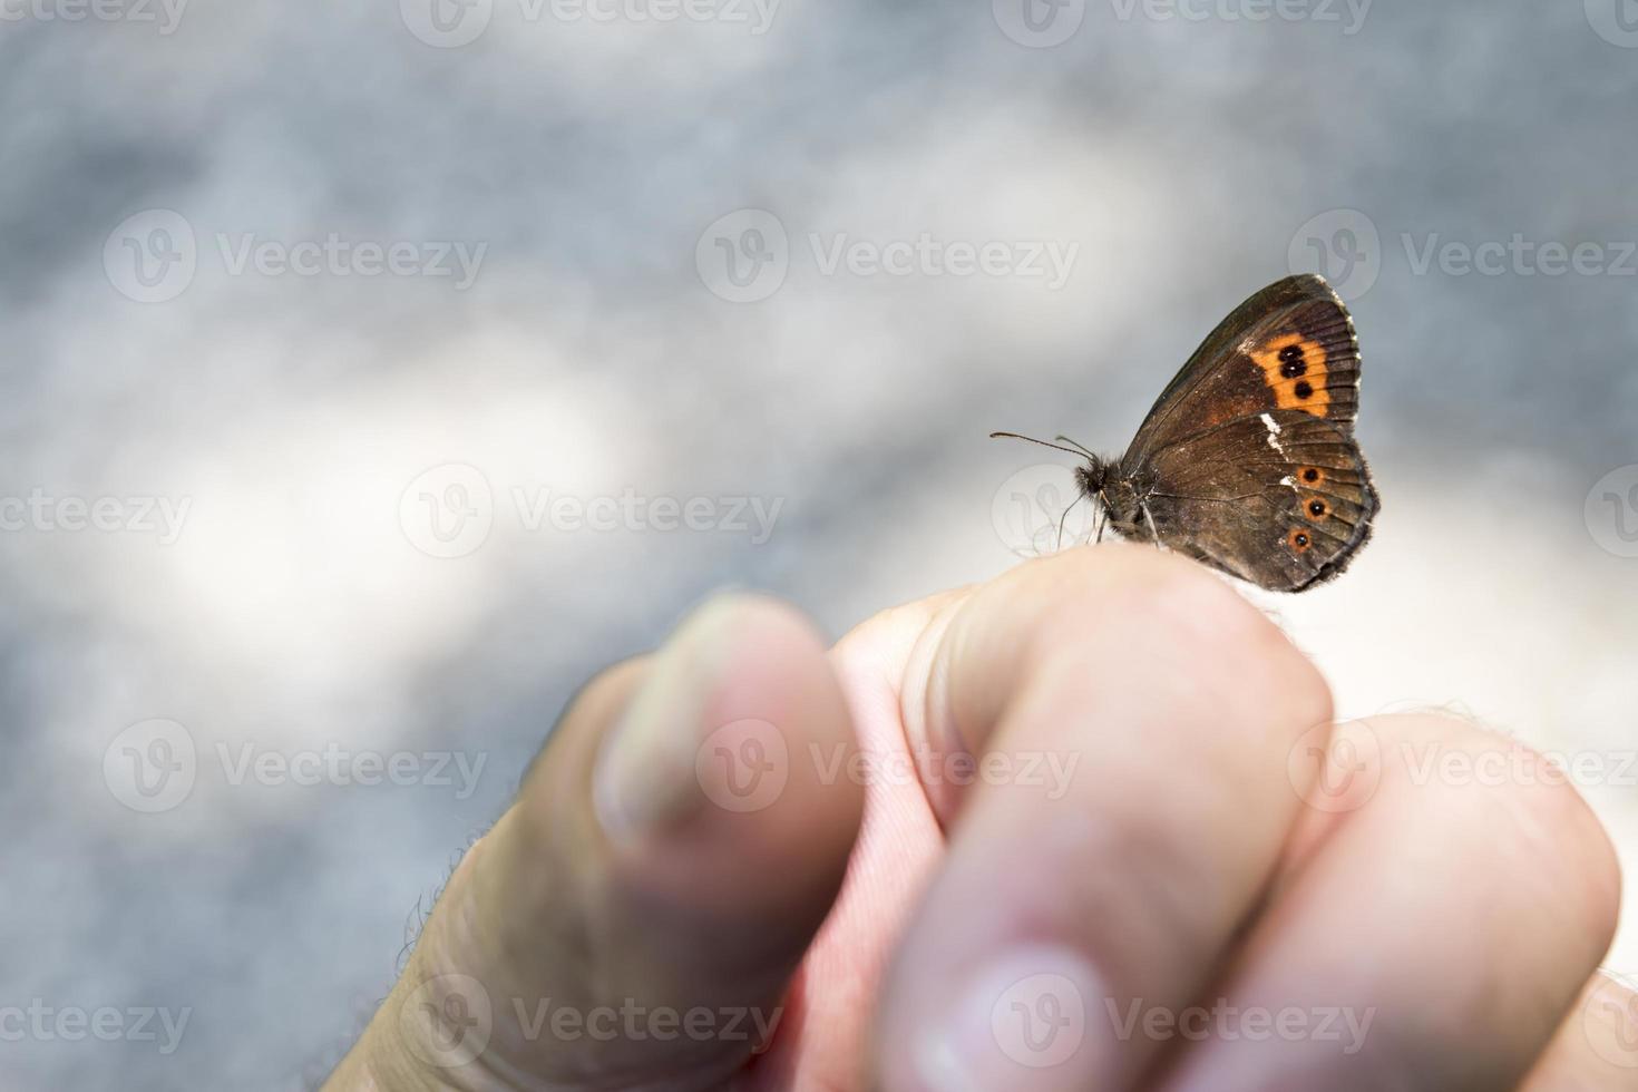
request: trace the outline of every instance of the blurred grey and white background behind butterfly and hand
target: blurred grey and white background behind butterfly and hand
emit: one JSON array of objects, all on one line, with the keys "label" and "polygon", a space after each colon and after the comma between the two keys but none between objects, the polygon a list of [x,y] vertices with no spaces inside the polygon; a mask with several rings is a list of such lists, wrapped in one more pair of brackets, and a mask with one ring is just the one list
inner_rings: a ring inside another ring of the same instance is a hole
[{"label": "blurred grey and white background behind butterfly and hand", "polygon": [[319,1081],[588,673],[1050,548],[984,434],[1119,450],[1291,270],[1384,512],[1263,601],[1631,864],[1638,3],[1527,8],[0,7],[0,1081]]}]

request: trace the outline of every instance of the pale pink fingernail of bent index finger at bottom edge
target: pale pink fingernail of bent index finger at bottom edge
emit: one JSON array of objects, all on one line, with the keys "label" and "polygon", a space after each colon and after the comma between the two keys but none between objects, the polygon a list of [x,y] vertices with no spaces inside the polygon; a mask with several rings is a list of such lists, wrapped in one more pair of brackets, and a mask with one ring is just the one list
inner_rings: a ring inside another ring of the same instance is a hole
[{"label": "pale pink fingernail of bent index finger at bottom edge", "polygon": [[1094,1087],[1104,1076],[1088,1035],[1102,1005],[1097,974],[1075,951],[1029,946],[983,964],[914,1045],[929,1092]]}]

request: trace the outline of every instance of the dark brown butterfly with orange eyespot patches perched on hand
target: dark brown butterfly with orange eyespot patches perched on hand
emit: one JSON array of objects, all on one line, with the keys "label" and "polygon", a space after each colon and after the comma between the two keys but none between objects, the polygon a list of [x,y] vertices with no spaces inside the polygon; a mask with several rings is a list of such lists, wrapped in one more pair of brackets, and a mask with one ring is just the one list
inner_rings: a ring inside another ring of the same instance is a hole
[{"label": "dark brown butterfly with orange eyespot patches perched on hand", "polygon": [[[1312,273],[1242,303],[1161,391],[1119,458],[1084,455],[1075,481],[1120,537],[1155,542],[1269,591],[1346,568],[1381,508],[1353,439],[1360,341]],[[1102,524],[1099,524],[1099,537]]]}]

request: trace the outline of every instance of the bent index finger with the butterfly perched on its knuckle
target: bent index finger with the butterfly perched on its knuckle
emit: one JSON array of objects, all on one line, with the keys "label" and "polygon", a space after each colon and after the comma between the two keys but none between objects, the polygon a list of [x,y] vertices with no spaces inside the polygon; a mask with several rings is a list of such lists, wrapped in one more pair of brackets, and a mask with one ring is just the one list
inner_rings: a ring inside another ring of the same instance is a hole
[{"label": "bent index finger with the butterfly perched on its knuckle", "polygon": [[911,732],[929,766],[989,773],[939,794],[950,853],[889,977],[885,1085],[1130,1087],[1156,1045],[1109,1005],[1204,986],[1296,819],[1286,755],[1327,689],[1225,583],[1132,547],[1020,566],[929,640]]}]

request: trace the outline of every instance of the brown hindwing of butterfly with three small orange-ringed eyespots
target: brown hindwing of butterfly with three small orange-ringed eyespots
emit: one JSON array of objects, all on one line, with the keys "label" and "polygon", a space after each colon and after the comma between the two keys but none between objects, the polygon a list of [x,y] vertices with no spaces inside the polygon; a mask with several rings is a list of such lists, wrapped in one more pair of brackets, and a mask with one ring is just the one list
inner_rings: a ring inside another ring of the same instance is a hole
[{"label": "brown hindwing of butterfly with three small orange-ringed eyespots", "polygon": [[1379,508],[1353,437],[1302,409],[1168,444],[1148,472],[1143,504],[1161,542],[1271,591],[1340,573]]}]

